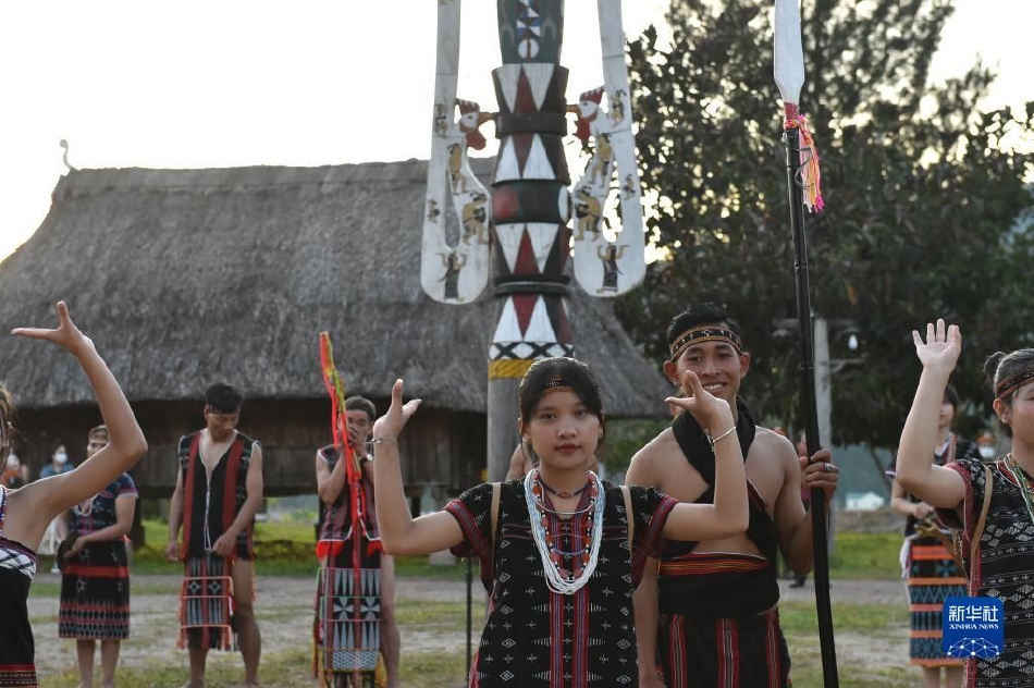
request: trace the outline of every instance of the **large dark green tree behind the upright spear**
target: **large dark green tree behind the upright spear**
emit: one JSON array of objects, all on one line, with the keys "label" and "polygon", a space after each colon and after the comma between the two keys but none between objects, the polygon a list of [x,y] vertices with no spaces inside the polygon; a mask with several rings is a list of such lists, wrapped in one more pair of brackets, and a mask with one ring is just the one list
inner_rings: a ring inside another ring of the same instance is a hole
[{"label": "large dark green tree behind the upright spear", "polygon": [[[1031,149],[1034,102],[981,112],[994,79],[981,65],[927,84],[950,2],[808,4],[801,106],[826,200],[807,218],[812,305],[857,323],[862,357],[834,379],[833,441],[897,443],[919,374],[910,332],[938,316],[962,328],[953,381],[983,419],[984,356],[1034,340],[1034,245],[1017,229],[1034,165],[1004,146]],[[753,354],[743,394],[756,417],[800,427],[796,334],[773,336],[796,302],[772,3],[674,0],[668,22],[669,47],[652,27],[630,44],[643,186],[657,198],[649,224],[667,258],[619,314],[660,360],[674,315],[725,304]]]}]

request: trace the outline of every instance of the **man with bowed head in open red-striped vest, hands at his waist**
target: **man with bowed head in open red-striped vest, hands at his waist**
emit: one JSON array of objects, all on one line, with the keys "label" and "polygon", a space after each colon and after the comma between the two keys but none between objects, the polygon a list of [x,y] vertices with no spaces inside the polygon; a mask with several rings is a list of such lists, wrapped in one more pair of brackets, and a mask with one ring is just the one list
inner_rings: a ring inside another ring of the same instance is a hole
[{"label": "man with bowed head in open red-striped vest, hands at his waist", "polygon": [[236,429],[243,401],[227,384],[211,385],[206,427],[180,439],[165,556],[184,562],[179,646],[189,648],[189,688],[204,687],[208,651],[232,650],[235,642],[245,686],[258,686],[262,640],[253,607],[251,531],[262,503],[262,450]]}]

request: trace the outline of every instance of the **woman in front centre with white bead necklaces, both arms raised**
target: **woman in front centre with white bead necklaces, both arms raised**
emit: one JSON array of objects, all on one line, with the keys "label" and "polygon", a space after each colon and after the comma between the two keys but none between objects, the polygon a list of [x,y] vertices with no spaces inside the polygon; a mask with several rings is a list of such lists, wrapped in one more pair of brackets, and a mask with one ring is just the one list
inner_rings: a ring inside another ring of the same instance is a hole
[{"label": "woman in front centre with white bead necklaces, both arms raised", "polygon": [[[632,591],[666,539],[717,539],[747,529],[747,479],[728,404],[704,391],[669,398],[712,438],[714,504],[678,504],[656,489],[618,488],[588,467],[605,426],[595,379],[570,358],[537,361],[518,390],[522,439],[539,466],[520,481],[480,484],[413,520],[398,466],[399,433],[419,401],[402,380],[373,426],[377,516],[385,549],[452,548],[481,563],[490,592],[470,685],[621,686],[638,677]],[[731,437],[731,440],[729,439]],[[631,518],[629,518],[631,515]]]}]

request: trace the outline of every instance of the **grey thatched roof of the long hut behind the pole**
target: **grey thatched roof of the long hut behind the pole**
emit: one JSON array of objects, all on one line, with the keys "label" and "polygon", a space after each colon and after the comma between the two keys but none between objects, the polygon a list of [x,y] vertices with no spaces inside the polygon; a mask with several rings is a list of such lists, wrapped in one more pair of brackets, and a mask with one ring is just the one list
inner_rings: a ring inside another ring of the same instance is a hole
[{"label": "grey thatched roof of the long hut behind the pole", "polygon": [[[487,173],[489,161],[476,161]],[[322,397],[329,330],[350,391],[396,376],[426,404],[483,411],[496,303],[446,306],[420,288],[427,163],[81,170],[0,263],[0,325],[51,325],[65,299],[131,401],[198,400],[212,381],[251,398]],[[578,356],[612,415],[663,414],[667,386],[603,299],[575,290]],[[23,407],[91,402],[67,355],[0,340]]]}]

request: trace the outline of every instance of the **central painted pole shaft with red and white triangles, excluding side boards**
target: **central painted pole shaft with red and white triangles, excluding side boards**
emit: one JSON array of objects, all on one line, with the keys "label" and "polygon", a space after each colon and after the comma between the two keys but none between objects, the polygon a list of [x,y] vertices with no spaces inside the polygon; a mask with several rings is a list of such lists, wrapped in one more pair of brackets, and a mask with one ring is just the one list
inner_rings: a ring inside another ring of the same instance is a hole
[{"label": "central painted pole shaft with red and white triangles, excluding side boards", "polygon": [[537,358],[573,356],[567,315],[570,175],[563,0],[498,0],[503,65],[492,72],[500,138],[492,182],[493,296],[489,349],[490,480],[517,445],[517,385]]}]

